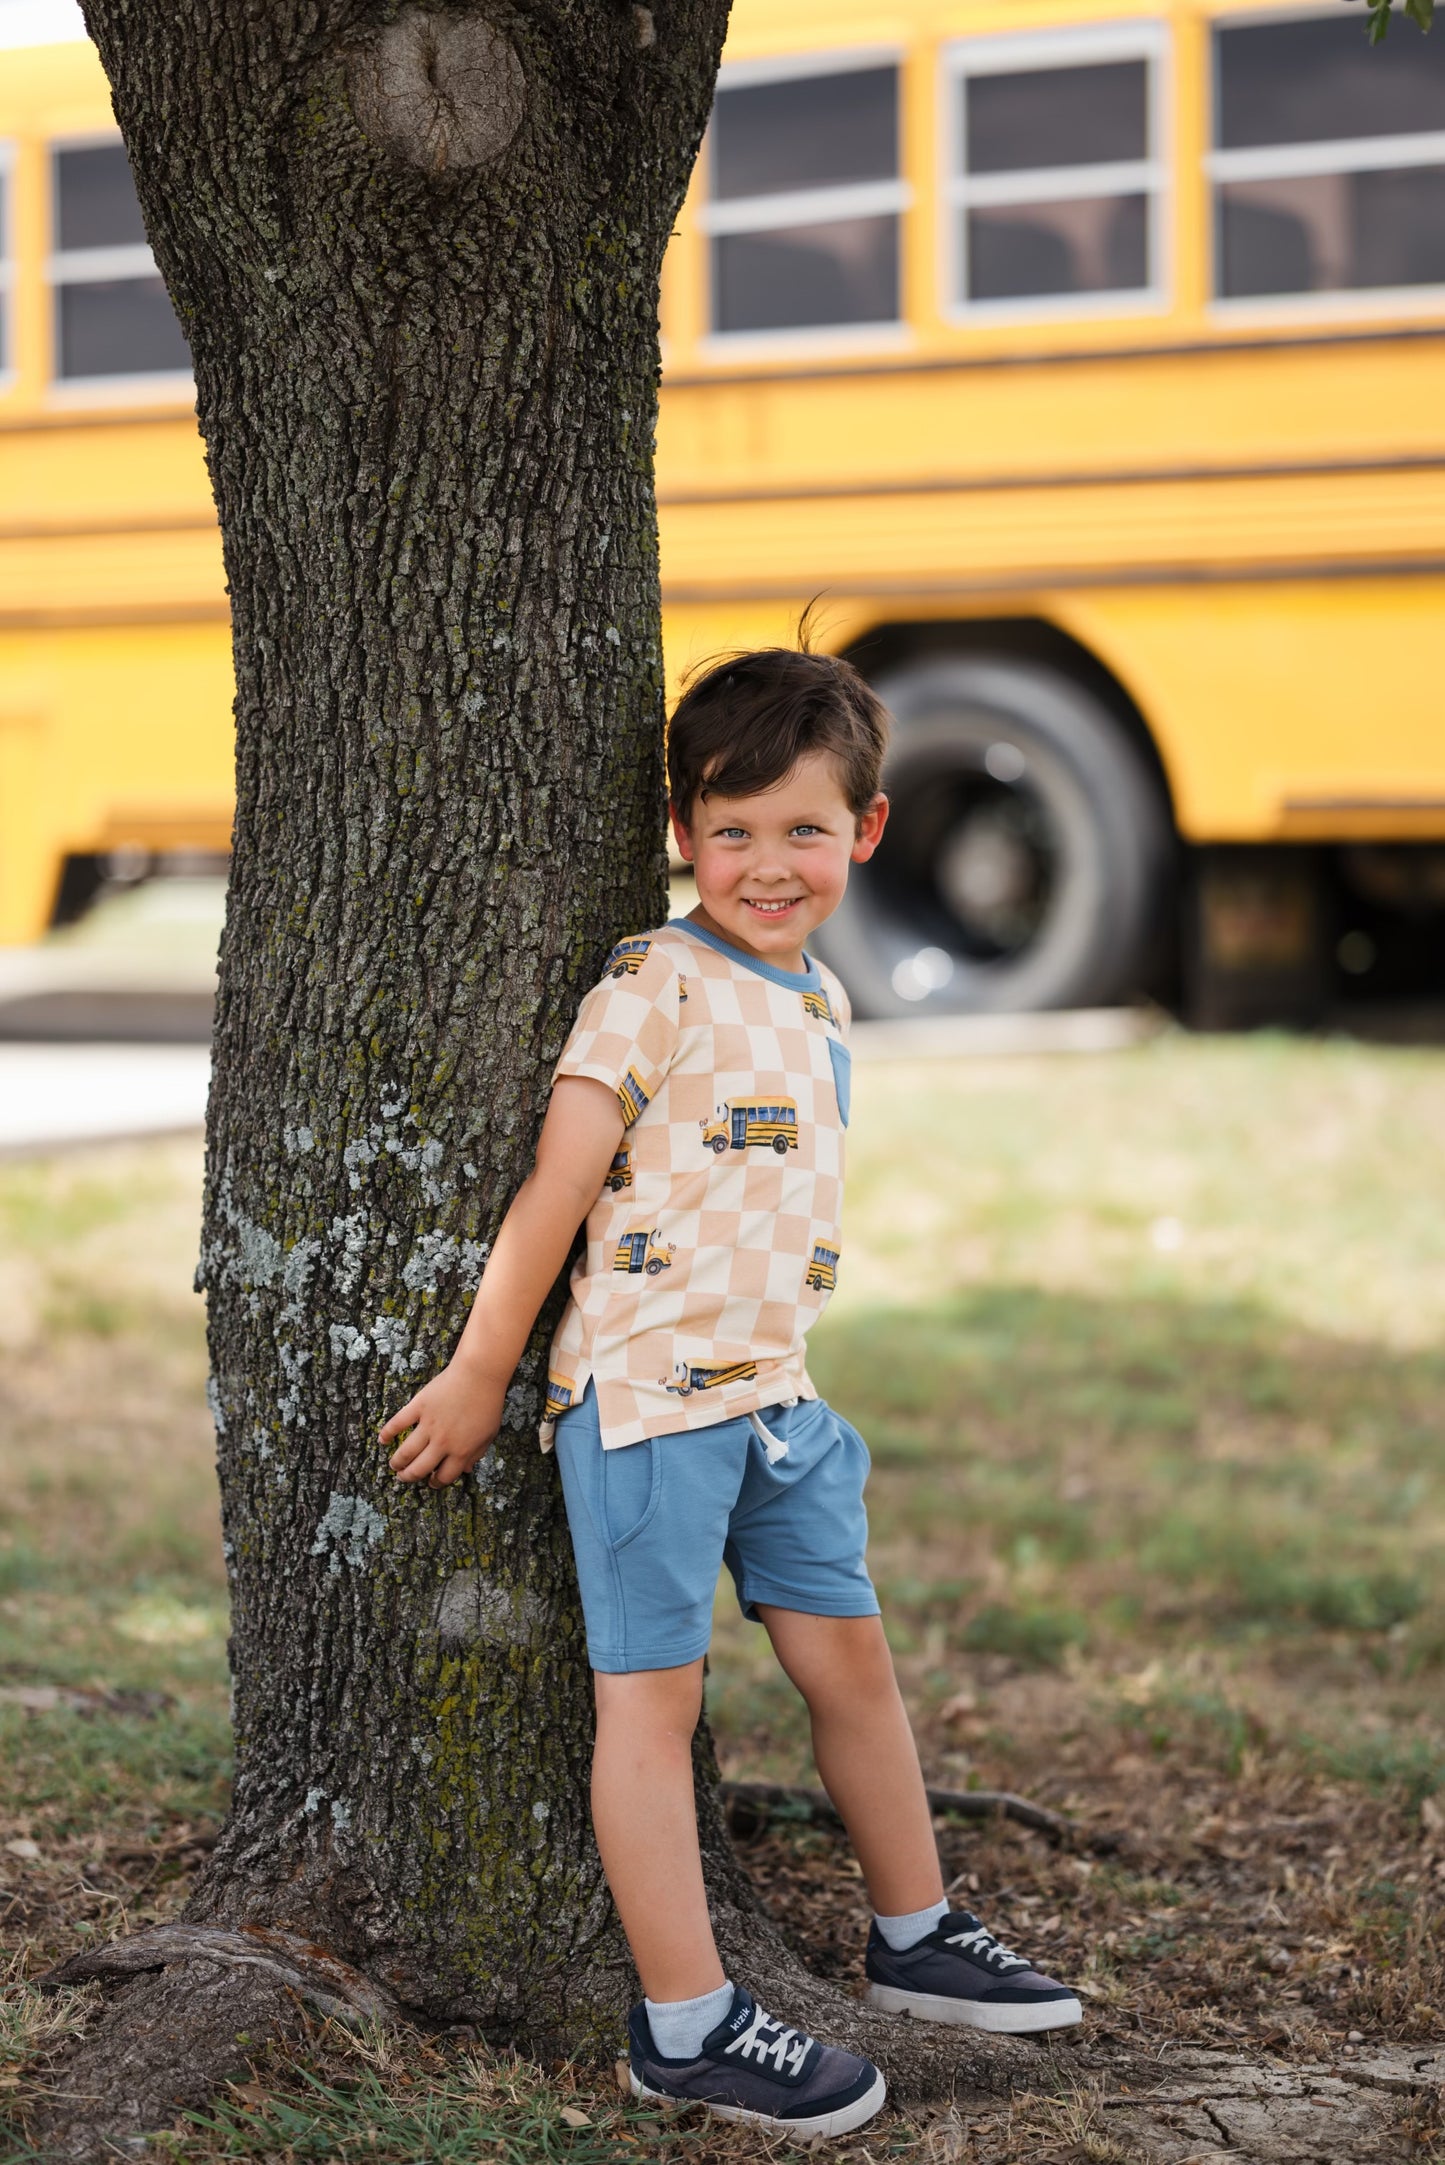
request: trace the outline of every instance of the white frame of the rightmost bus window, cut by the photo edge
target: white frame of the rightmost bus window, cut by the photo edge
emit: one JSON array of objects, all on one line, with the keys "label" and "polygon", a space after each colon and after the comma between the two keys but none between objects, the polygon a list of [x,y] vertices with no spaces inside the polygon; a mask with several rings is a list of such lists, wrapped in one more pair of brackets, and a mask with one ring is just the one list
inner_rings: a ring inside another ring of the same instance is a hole
[{"label": "white frame of the rightmost bus window, cut by the photo edge", "polygon": [[[1231,180],[1272,180],[1285,178],[1287,171],[1304,178],[1304,173],[1380,173],[1380,171],[1406,171],[1415,165],[1445,165],[1445,128],[1436,128],[1430,134],[1397,134],[1397,136],[1322,136],[1317,143],[1287,143],[1278,147],[1254,145],[1252,149],[1218,149],[1215,128],[1220,121],[1220,30],[1239,30],[1252,24],[1291,24],[1291,22],[1339,22],[1339,6],[1328,6],[1326,0],[1315,0],[1306,6],[1250,6],[1248,0],[1224,0],[1209,9],[1205,17],[1205,30],[1209,37],[1209,52],[1205,58],[1205,216],[1207,225],[1207,314],[1213,323],[1250,323],[1250,325],[1291,325],[1291,323],[1371,323],[1380,316],[1432,316],[1445,310],[1445,284],[1436,286],[1330,286],[1313,292],[1261,292],[1261,294],[1222,294],[1218,290],[1222,271],[1222,249],[1220,249],[1220,184]],[[1400,26],[1397,26],[1400,35]],[[1365,26],[1361,24],[1361,50],[1369,54],[1365,43]],[[1436,143],[1436,158],[1369,158],[1354,162],[1339,156],[1328,162],[1296,165],[1293,160],[1322,158],[1328,152],[1341,149],[1369,149],[1389,147],[1400,143]],[[1261,162],[1263,160],[1263,162]],[[1272,162],[1278,160],[1278,162]]]}]

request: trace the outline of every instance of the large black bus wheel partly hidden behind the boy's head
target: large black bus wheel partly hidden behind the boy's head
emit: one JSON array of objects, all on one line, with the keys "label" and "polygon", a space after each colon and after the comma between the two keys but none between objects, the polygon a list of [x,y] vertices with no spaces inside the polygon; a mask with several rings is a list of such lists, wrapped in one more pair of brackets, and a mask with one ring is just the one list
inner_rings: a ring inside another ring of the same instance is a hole
[{"label": "large black bus wheel partly hidden behind the boy's head", "polygon": [[[1174,831],[1159,777],[1109,708],[1010,654],[919,658],[875,691],[897,723],[888,829],[810,942],[856,1013],[1020,1013],[1137,994]],[[979,857],[964,831],[979,836],[979,821],[992,821],[1003,901],[971,918]]]}]

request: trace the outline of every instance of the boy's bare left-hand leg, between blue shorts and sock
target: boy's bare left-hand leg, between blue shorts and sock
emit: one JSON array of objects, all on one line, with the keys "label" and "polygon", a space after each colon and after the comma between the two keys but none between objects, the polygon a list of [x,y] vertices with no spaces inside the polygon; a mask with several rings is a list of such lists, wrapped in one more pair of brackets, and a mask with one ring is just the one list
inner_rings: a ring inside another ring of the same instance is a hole
[{"label": "boy's bare left-hand leg, between blue shorts and sock", "polygon": [[693,1730],[702,1661],[594,1674],[591,1823],[641,1990],[691,2000],[726,1983],[698,1851]]}]

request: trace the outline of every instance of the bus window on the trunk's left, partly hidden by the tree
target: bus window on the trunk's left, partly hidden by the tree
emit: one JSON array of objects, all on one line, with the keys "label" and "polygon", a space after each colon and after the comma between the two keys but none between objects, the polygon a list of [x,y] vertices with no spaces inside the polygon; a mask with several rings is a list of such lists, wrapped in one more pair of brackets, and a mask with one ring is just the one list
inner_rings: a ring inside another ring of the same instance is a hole
[{"label": "bus window on the trunk's left, partly hidden by the tree", "polygon": [[191,349],[145,242],[119,143],[54,152],[56,375],[182,375]]}]

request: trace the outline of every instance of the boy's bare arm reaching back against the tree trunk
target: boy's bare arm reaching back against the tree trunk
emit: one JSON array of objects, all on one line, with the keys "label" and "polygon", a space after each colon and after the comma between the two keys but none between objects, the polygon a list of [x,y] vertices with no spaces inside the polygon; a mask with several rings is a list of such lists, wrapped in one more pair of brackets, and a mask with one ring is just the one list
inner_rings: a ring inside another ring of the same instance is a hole
[{"label": "boy's bare arm reaching back against the tree trunk", "polygon": [[487,1451],[537,1310],[602,1193],[622,1134],[622,1104],[604,1082],[563,1076],[552,1087],[537,1163],[503,1219],[457,1351],[381,1429],[383,1444],[412,1431],[390,1459],[401,1481],[446,1487]]}]

